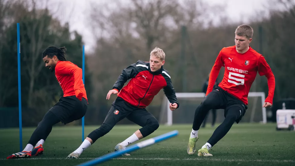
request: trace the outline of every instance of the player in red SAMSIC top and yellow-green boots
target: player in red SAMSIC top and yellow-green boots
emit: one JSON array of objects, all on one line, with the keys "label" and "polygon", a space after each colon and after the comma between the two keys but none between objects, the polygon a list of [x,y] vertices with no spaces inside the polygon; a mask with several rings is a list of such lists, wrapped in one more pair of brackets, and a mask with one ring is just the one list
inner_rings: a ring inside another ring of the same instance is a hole
[{"label": "player in red SAMSIC top and yellow-green boots", "polygon": [[[253,29],[250,26],[245,24],[238,26],[235,30],[235,45],[222,48],[219,52],[209,76],[206,97],[195,112],[193,129],[187,147],[188,154],[192,155],[196,152],[198,130],[207,112],[210,109],[224,109],[224,121],[198,151],[198,156],[212,156],[209,153],[210,148],[226,135],[234,122],[238,123],[244,116],[248,105],[248,93],[257,72],[260,76],[267,77],[268,96],[263,107],[272,106],[275,88],[274,74],[264,57],[249,46],[252,35]],[[222,66],[225,67],[223,79],[213,89]]]}]

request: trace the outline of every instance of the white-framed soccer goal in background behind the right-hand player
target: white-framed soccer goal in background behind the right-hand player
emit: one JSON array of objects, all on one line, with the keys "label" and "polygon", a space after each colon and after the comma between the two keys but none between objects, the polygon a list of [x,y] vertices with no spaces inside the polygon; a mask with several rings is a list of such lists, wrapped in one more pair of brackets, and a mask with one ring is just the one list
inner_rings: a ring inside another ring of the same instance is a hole
[{"label": "white-framed soccer goal in background behind the right-hand player", "polygon": [[[192,124],[196,108],[200,105],[205,97],[205,93],[176,93],[180,107],[175,111],[170,111],[169,101],[165,96],[162,102],[159,121],[161,124]],[[265,101],[264,92],[249,92],[248,109],[240,122],[262,122],[266,123],[266,109],[263,108]],[[224,110],[217,110],[216,123],[224,120]],[[211,111],[207,115],[206,123],[210,123],[212,116]]]}]

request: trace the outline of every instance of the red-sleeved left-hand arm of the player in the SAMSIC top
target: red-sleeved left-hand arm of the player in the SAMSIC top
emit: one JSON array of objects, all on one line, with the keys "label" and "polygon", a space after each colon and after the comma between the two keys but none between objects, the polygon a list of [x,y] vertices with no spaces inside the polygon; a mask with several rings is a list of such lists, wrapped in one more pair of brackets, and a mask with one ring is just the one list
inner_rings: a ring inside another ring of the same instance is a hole
[{"label": "red-sleeved left-hand arm of the player in the SAMSIC top", "polygon": [[221,67],[224,67],[224,62],[222,61],[222,50],[219,52],[215,63],[211,69],[210,75],[209,75],[209,82],[208,82],[208,88],[207,88],[207,92],[206,92],[206,96],[213,90],[213,86],[216,82],[216,79],[218,77],[219,71],[221,69]]}]

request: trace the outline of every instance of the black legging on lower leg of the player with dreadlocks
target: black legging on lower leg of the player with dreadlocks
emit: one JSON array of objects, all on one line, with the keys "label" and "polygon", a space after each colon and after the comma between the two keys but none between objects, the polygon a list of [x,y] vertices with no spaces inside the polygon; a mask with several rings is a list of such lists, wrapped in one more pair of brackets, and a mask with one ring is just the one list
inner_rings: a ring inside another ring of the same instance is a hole
[{"label": "black legging on lower leg of the player with dreadlocks", "polygon": [[41,139],[46,140],[52,130],[52,126],[60,122],[60,120],[52,112],[47,111],[37,128],[33,132],[28,144],[35,146]]}]

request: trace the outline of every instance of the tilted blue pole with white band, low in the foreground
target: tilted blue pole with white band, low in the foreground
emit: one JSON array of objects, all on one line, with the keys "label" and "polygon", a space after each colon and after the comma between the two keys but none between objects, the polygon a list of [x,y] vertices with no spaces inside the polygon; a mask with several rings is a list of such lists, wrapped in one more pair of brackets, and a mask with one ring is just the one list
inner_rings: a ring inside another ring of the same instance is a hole
[{"label": "tilted blue pole with white band, low in the foreground", "polygon": [[166,134],[159,135],[157,137],[150,138],[150,139],[147,139],[145,141],[139,142],[139,143],[137,143],[135,145],[131,145],[131,146],[127,147],[123,151],[114,151],[112,153],[109,153],[107,155],[103,155],[103,156],[101,156],[99,158],[96,158],[96,159],[93,159],[91,161],[87,161],[85,163],[79,164],[78,166],[92,166],[92,165],[96,165],[96,164],[102,163],[104,161],[108,161],[111,158],[115,158],[115,157],[121,156],[124,153],[128,153],[128,152],[131,152],[131,151],[138,150],[140,148],[144,148],[144,147],[149,146],[149,145],[153,145],[154,143],[157,143],[157,142],[160,142],[160,141],[164,141],[164,140],[166,140],[168,138],[172,138],[172,137],[175,137],[177,135],[178,135],[178,131],[177,130],[174,130],[172,132],[168,132]]}]

